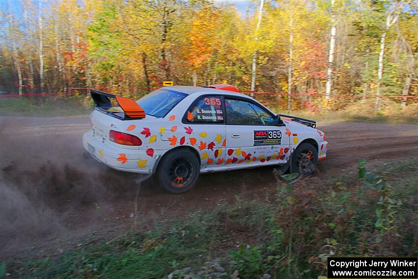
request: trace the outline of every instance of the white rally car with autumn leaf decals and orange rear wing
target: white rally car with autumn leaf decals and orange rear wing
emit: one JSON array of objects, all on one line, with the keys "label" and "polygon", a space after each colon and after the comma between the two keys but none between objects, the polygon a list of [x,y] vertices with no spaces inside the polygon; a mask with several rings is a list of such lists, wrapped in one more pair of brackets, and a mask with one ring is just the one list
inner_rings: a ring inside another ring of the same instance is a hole
[{"label": "white rally car with autumn leaf decals and orange rear wing", "polygon": [[84,148],[119,171],[155,173],[173,193],[190,189],[200,173],[289,165],[306,176],[325,159],[328,143],[314,121],[275,115],[238,92],[170,86],[135,102],[91,90],[95,110]]}]

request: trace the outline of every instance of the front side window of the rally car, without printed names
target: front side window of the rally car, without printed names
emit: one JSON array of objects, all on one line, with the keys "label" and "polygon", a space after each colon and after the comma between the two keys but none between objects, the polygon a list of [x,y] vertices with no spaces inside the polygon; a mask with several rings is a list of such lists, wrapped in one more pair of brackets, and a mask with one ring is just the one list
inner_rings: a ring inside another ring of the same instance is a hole
[{"label": "front side window of the rally car, without printed names", "polygon": [[260,106],[244,100],[226,99],[228,124],[274,125],[274,118]]}]

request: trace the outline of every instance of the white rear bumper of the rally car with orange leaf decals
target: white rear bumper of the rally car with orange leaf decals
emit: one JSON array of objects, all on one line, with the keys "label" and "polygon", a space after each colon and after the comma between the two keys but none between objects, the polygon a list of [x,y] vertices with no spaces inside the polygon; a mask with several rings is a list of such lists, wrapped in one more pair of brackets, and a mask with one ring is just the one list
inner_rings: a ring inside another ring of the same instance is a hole
[{"label": "white rear bumper of the rally car with orange leaf decals", "polygon": [[96,160],[113,169],[142,174],[152,174],[162,155],[162,152],[154,151],[151,157],[142,149],[121,148],[103,142],[98,137],[94,137],[91,131],[83,135],[83,146]]}]

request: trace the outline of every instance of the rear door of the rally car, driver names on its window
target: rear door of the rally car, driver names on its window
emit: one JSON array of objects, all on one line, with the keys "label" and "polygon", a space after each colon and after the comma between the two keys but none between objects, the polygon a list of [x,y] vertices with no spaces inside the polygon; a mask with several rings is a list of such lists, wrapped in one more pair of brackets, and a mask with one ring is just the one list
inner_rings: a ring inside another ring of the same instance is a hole
[{"label": "rear door of the rally car, driver names on its window", "polygon": [[225,165],[226,129],[221,95],[202,95],[186,111],[183,124],[189,144],[199,151],[201,167]]}]

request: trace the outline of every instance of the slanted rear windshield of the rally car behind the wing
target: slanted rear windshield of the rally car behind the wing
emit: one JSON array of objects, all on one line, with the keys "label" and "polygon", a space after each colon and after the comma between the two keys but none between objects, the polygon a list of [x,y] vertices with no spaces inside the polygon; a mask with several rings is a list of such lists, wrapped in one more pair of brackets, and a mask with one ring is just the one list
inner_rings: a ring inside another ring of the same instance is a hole
[{"label": "slanted rear windshield of the rally car behind the wing", "polygon": [[165,117],[187,94],[170,89],[158,89],[142,97],[137,103],[145,113],[155,117]]}]

